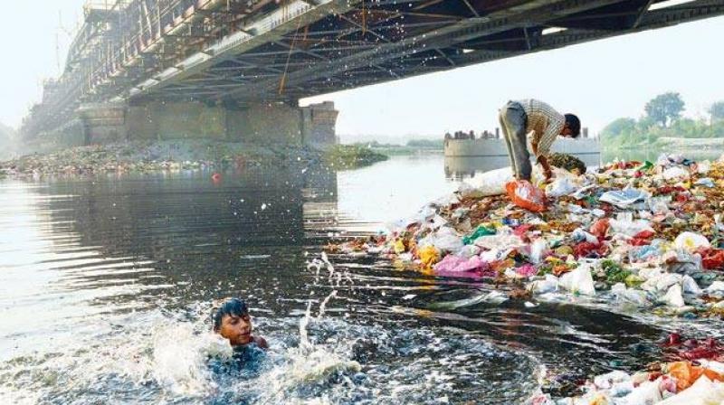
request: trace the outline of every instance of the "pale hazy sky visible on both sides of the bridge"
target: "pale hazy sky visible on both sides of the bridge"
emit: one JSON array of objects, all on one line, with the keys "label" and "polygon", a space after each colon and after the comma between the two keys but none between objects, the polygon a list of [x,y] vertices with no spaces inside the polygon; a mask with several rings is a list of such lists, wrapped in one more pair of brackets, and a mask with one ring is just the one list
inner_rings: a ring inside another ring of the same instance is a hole
[{"label": "pale hazy sky visible on both sides of the bridge", "polygon": [[[14,1],[0,14],[0,122],[18,126],[57,73],[59,10],[66,28],[83,0]],[[65,49],[70,37],[60,31]],[[724,17],[319,96],[334,100],[338,133],[442,134],[496,127],[508,99],[537,98],[574,112],[596,133],[619,117],[638,117],[648,99],[681,92],[686,115],[704,115],[724,99]],[[8,61],[14,60],[11,63]],[[350,139],[351,137],[346,137]]]}]

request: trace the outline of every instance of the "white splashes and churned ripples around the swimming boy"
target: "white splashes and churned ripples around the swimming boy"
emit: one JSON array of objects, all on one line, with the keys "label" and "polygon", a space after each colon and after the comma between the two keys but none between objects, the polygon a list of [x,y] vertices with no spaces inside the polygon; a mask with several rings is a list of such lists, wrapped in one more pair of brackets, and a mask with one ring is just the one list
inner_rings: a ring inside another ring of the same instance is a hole
[{"label": "white splashes and churned ripples around the swimming boy", "polygon": [[391,328],[309,314],[255,318],[271,350],[241,368],[219,367],[233,362],[232,350],[208,331],[209,310],[137,313],[129,315],[134,322],[114,319],[124,326],[88,335],[63,353],[12,359],[0,366],[0,400],[511,403],[538,387],[538,365],[527,355],[452,329]]}]

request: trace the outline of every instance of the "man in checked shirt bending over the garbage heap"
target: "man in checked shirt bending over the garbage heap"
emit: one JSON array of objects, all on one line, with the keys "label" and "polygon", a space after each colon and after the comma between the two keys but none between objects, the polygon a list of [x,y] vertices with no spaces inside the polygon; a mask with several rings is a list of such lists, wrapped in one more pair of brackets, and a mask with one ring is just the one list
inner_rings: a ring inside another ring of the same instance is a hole
[{"label": "man in checked shirt bending over the garbage heap", "polygon": [[530,181],[530,154],[527,137],[538,163],[543,166],[546,181],[553,175],[548,165],[550,146],[556,137],[578,137],[581,122],[573,114],[561,115],[543,101],[524,99],[508,101],[500,108],[500,128],[508,146],[510,165],[518,180]]}]

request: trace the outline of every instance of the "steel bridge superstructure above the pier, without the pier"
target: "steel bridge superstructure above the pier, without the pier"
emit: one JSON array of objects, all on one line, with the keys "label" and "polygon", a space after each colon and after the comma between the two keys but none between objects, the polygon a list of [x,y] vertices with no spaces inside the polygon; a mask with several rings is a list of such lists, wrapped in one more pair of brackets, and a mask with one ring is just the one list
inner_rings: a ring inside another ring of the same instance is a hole
[{"label": "steel bridge superstructure above the pier, without the pier", "polygon": [[[84,26],[58,80],[66,90],[34,108],[46,127],[81,102],[289,101],[724,14],[724,0],[122,2],[142,18]],[[138,33],[102,41],[133,24]]]}]

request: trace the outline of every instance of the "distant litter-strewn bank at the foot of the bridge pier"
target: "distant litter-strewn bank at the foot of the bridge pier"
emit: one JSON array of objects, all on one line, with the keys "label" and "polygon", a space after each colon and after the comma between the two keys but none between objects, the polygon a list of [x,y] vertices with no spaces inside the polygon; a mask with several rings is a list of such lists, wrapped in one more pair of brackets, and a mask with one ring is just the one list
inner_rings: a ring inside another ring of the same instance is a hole
[{"label": "distant litter-strewn bank at the foot of the bridge pier", "polygon": [[240,166],[323,163],[343,168],[386,159],[362,148],[258,145],[214,140],[132,141],[76,146],[0,162],[0,176],[224,170]]}]

